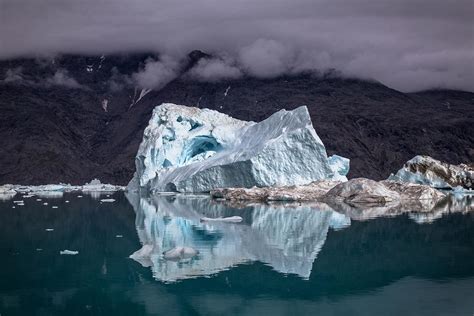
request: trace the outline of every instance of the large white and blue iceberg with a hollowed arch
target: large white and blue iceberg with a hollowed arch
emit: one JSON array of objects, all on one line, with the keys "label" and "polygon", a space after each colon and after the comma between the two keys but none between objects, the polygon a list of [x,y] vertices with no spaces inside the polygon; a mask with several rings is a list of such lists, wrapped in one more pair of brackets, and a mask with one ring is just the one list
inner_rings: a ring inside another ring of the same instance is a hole
[{"label": "large white and blue iceberg with a hollowed arch", "polygon": [[344,180],[349,160],[328,158],[305,106],[255,123],[165,103],[145,129],[128,190],[208,192],[224,187]]}]

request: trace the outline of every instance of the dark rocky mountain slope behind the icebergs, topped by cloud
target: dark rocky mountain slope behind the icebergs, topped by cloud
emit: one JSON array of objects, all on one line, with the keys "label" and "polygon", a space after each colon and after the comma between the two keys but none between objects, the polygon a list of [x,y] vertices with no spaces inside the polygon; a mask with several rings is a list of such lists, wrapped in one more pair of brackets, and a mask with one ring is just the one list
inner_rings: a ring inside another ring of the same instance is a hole
[{"label": "dark rocky mountain slope behind the icebergs, topped by cloud", "polygon": [[306,105],[329,154],[351,159],[349,177],[383,179],[413,156],[474,161],[474,93],[402,93],[334,74],[190,79],[209,55],[193,52],[158,91],[134,87],[133,74],[158,55],[63,55],[0,61],[0,184],[126,184],[151,111],[163,102],[215,109],[260,121]]}]

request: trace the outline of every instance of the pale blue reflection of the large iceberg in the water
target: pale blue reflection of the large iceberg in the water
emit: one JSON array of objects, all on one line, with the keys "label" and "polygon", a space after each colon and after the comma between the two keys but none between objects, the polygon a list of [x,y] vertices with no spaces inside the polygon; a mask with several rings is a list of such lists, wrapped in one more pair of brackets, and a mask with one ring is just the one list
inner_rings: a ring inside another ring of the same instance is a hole
[{"label": "pale blue reflection of the large iceberg in the water", "polygon": [[[143,245],[130,257],[151,267],[154,277],[165,282],[211,275],[251,261],[309,278],[329,228],[350,225],[350,218],[322,203],[254,204],[237,209],[208,197],[127,194],[127,198],[135,209]],[[243,217],[243,222],[200,221],[203,216],[233,215]],[[186,261],[165,260],[163,251],[174,247],[192,247],[199,254]]]}]

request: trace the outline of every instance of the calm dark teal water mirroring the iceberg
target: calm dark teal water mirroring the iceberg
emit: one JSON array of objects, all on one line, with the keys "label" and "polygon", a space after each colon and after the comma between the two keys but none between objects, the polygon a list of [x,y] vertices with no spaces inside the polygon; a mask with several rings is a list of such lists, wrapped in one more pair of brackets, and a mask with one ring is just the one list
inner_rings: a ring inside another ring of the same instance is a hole
[{"label": "calm dark teal water mirroring the iceberg", "polygon": [[[197,196],[37,198],[0,201],[2,316],[474,314],[471,200],[376,217]],[[244,221],[199,221],[230,215]],[[164,260],[175,246],[199,254]]]}]

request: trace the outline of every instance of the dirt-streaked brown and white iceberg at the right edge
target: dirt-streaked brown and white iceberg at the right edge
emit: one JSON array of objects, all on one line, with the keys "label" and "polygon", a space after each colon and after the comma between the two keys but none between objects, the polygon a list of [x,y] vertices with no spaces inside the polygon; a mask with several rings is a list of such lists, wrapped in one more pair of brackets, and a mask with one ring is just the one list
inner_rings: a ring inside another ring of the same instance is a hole
[{"label": "dirt-streaked brown and white iceberg at the right edge", "polygon": [[472,190],[474,168],[466,164],[448,164],[429,156],[415,156],[388,180],[426,184],[439,189]]}]

